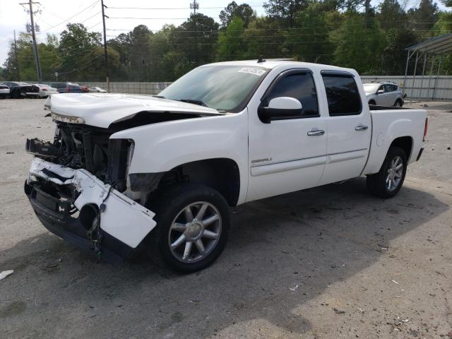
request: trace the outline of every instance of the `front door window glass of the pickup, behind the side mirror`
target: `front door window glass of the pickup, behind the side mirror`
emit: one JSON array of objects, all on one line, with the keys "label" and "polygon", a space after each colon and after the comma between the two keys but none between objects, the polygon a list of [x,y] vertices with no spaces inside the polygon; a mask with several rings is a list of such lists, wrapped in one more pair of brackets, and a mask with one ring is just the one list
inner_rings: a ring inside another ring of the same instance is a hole
[{"label": "front door window glass of the pickup, behind the side mirror", "polygon": [[316,86],[308,72],[292,73],[280,78],[266,95],[266,105],[275,97],[293,97],[302,103],[302,117],[319,117]]}]

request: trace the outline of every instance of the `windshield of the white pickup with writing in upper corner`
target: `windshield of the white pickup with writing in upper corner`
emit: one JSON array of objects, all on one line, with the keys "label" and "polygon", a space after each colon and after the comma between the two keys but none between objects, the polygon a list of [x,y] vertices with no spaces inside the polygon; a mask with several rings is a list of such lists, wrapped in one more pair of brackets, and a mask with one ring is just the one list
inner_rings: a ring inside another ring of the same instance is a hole
[{"label": "windshield of the white pickup with writing in upper corner", "polygon": [[255,66],[201,66],[186,73],[158,96],[238,112],[267,72],[268,69]]}]

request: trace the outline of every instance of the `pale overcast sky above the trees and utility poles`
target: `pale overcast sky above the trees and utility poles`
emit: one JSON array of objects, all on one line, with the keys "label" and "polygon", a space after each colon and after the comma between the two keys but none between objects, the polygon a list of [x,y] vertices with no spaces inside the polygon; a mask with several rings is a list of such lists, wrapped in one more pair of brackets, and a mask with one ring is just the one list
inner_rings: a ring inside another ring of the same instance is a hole
[{"label": "pale overcast sky above the trees and utility poles", "polygon": [[[6,59],[9,42],[13,39],[13,31],[25,31],[25,24],[30,22],[30,15],[24,11],[24,3],[28,0],[0,0],[0,66]],[[67,23],[83,23],[91,31],[102,32],[102,14],[100,0],[34,0],[40,5],[34,5],[34,10],[39,9],[35,15],[35,23],[40,26],[37,40],[44,41],[47,33],[59,35]],[[193,0],[104,0],[107,39],[111,39],[121,32],[129,32],[136,25],[147,25],[150,30],[159,30],[162,25],[180,25],[189,18],[191,9],[190,1]],[[218,14],[232,0],[200,0],[200,13],[210,16],[220,22]],[[261,16],[265,14],[263,2],[265,0],[236,0],[237,4],[245,2]],[[380,0],[372,0],[372,6],[379,4]],[[408,7],[416,7],[420,0],[408,0]],[[439,2],[439,1],[436,1]],[[439,4],[441,9],[444,6]],[[122,8],[115,8],[122,7]],[[131,9],[124,9],[124,7]],[[154,8],[154,9],[132,9]],[[28,9],[28,6],[26,6]],[[166,8],[166,9],[155,9]],[[140,18],[140,19],[133,19]]]}]

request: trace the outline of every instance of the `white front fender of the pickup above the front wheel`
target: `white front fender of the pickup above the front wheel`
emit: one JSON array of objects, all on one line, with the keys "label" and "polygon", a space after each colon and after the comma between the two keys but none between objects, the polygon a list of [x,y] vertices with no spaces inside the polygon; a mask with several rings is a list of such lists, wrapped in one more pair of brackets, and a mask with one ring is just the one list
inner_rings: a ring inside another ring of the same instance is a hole
[{"label": "white front fender of the pickup above the front wheel", "polygon": [[237,114],[167,121],[114,133],[131,139],[134,150],[129,174],[167,172],[187,162],[229,158],[239,166],[239,201],[246,196],[248,176],[248,119]]}]

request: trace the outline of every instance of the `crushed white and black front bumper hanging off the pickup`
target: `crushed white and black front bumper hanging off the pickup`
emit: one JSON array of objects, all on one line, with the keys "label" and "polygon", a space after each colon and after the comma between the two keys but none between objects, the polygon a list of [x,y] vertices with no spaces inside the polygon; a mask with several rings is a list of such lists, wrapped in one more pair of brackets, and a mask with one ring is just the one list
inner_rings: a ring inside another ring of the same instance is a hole
[{"label": "crushed white and black front bumper hanging off the pickup", "polygon": [[[51,194],[43,189],[42,182],[73,191],[76,197],[68,199]],[[93,246],[87,228],[81,222],[81,214],[74,215],[83,206],[96,206],[100,210],[102,258],[107,260],[117,261],[128,256],[156,225],[152,211],[112,189],[85,169],[71,169],[38,157],[32,161],[25,194],[37,218],[50,232],[88,251]]]}]

